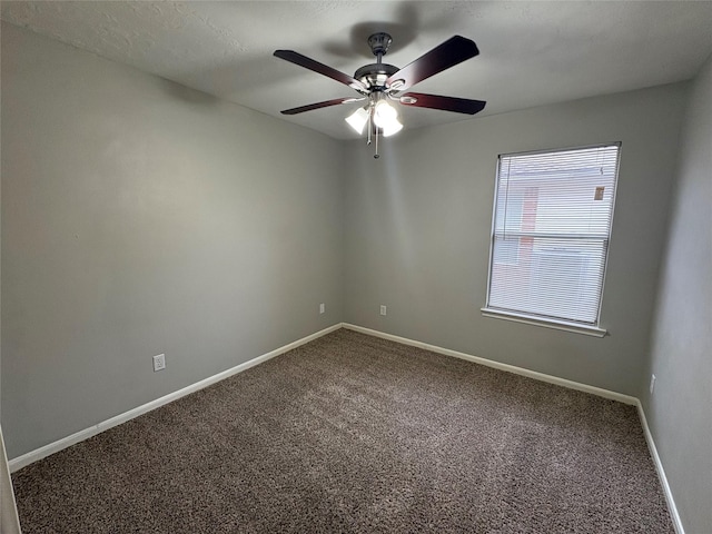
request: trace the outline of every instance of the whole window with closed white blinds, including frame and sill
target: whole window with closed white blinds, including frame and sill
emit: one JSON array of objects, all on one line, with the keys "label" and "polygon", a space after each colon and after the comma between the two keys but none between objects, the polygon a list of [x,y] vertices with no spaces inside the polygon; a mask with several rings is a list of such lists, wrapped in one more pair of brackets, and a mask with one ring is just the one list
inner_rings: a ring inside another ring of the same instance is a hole
[{"label": "whole window with closed white blinds, including frame and sill", "polygon": [[500,156],[488,316],[594,335],[620,144]]}]

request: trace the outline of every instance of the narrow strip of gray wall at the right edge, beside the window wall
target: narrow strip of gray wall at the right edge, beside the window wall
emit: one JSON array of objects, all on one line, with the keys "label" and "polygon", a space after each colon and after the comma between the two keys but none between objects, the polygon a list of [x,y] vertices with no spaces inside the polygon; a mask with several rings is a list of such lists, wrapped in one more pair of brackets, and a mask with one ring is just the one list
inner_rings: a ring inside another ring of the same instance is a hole
[{"label": "narrow strip of gray wall at the right edge, beside the window wall", "polygon": [[711,532],[712,58],[686,112],[651,365],[642,378],[640,396],[685,531]]}]

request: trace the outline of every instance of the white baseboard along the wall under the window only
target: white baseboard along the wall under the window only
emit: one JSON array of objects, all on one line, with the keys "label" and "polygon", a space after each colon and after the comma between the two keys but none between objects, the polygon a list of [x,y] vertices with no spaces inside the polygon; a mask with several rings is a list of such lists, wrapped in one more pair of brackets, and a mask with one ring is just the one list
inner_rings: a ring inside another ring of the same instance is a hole
[{"label": "white baseboard along the wall under the window only", "polygon": [[350,325],[348,323],[344,323],[344,328],[348,328],[349,330],[360,332],[363,334],[368,334],[369,336],[380,337],[383,339],[390,339],[392,342],[402,343],[404,345],[411,345],[414,347],[424,348],[426,350],[431,350],[437,354],[443,354],[445,356],[453,356],[455,358],[466,359],[467,362],[474,362],[475,364],[493,367],[500,370],[505,370],[507,373],[514,373],[515,375],[527,376],[530,378],[534,378],[535,380],[546,382],[548,384],[555,384],[557,386],[567,387],[568,389],[576,389],[580,392],[590,393],[592,395],[610,398],[612,400],[617,400],[623,404],[630,404],[633,406],[639,404],[637,398],[632,397],[630,395],[611,392],[609,389],[590,386],[587,384],[581,384],[578,382],[567,380],[565,378],[560,378],[558,376],[546,375],[544,373],[525,369],[523,367],[517,367],[515,365],[502,364],[500,362],[494,362],[492,359],[481,358],[478,356],[473,356],[471,354],[458,353],[457,350],[451,350],[449,348],[443,348],[436,345],[428,345],[427,343],[416,342],[414,339],[394,336],[392,334],[385,334],[378,330],[372,330],[370,328],[364,328],[363,326]]}]

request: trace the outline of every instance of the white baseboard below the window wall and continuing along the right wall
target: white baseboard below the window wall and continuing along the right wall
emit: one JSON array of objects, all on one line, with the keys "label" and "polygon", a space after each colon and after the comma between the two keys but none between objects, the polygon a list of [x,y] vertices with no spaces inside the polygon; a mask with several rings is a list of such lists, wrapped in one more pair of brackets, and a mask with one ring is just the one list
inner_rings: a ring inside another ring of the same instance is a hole
[{"label": "white baseboard below the window wall and continuing along the right wall", "polygon": [[436,345],[428,345],[427,343],[416,342],[414,339],[408,339],[406,337],[394,336],[393,334],[386,334],[383,332],[373,330],[370,328],[364,328],[363,326],[350,325],[348,323],[344,323],[343,326],[344,328],[348,328],[349,330],[360,332],[362,334],[367,334],[369,336],[380,337],[383,339],[389,339],[392,342],[402,343],[404,345],[411,345],[414,347],[424,348],[426,350],[431,350],[437,354],[443,354],[445,356],[454,356],[455,358],[466,359],[468,362],[474,362],[475,364],[485,365],[487,367],[493,367],[495,369],[505,370],[507,373],[514,373],[516,375],[527,376],[530,378],[534,378],[535,380],[546,382],[548,384],[555,384],[557,386],[563,386],[570,389],[576,389],[584,393],[590,393],[599,397],[604,397],[612,400],[617,400],[623,404],[635,406],[637,408],[637,414],[640,416],[641,426],[643,427],[643,434],[645,435],[645,441],[647,442],[647,448],[650,449],[650,455],[653,459],[653,465],[655,466],[655,471],[657,472],[657,477],[660,478],[660,484],[663,488],[663,493],[665,494],[665,501],[668,502],[668,511],[670,512],[670,517],[672,520],[673,527],[675,528],[676,534],[685,534],[685,531],[682,526],[682,521],[680,520],[680,515],[678,514],[678,507],[675,506],[675,501],[672,496],[672,491],[670,490],[670,485],[668,484],[665,469],[663,468],[663,464],[660,461],[660,456],[657,455],[657,448],[655,447],[655,442],[653,441],[653,436],[650,432],[650,427],[647,426],[647,419],[645,418],[645,412],[643,411],[643,405],[641,404],[637,397],[624,395],[622,393],[611,392],[609,389],[603,389],[601,387],[590,386],[587,384],[581,384],[578,382],[567,380],[565,378],[560,378],[557,376],[546,375],[544,373],[538,373],[536,370],[525,369],[523,367],[517,367],[515,365],[502,364],[500,362],[481,358],[478,356],[473,356],[471,354],[458,353],[457,350],[451,350],[449,348],[443,348]]}]

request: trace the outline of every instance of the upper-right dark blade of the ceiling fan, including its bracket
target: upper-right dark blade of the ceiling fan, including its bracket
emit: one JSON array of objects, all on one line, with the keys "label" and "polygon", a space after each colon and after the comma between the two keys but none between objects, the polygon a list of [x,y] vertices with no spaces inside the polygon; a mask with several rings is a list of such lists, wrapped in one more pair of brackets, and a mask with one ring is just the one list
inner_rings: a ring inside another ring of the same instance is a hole
[{"label": "upper-right dark blade of the ceiling fan, including its bracket", "polygon": [[452,37],[390,76],[386,85],[394,91],[403,91],[478,53],[475,41],[461,36]]}]

